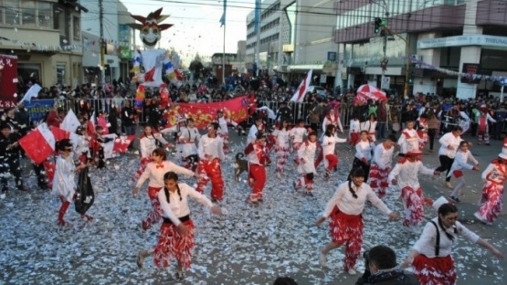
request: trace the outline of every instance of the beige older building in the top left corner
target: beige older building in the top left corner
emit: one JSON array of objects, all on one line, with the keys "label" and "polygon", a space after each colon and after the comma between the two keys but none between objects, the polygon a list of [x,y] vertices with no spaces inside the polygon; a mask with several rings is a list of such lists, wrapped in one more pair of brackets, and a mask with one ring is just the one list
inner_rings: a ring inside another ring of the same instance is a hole
[{"label": "beige older building in the top left corner", "polygon": [[0,53],[17,56],[20,87],[83,81],[81,12],[76,0],[0,0]]}]

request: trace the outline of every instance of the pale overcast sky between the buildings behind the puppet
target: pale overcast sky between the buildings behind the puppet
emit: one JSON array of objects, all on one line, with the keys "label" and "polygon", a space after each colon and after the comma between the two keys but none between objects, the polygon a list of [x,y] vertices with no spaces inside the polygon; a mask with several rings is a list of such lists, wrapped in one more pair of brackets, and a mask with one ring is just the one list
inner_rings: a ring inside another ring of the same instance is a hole
[{"label": "pale overcast sky between the buildings behind the puppet", "polygon": [[[164,24],[173,24],[162,32],[161,47],[174,48],[186,64],[198,53],[205,61],[223,51],[224,27],[220,27],[223,2],[218,0],[121,0],[133,15],[148,16],[164,7],[170,15]],[[226,52],[236,53],[238,40],[247,39],[246,19],[255,0],[227,0]],[[160,23],[159,23],[160,24]]]}]

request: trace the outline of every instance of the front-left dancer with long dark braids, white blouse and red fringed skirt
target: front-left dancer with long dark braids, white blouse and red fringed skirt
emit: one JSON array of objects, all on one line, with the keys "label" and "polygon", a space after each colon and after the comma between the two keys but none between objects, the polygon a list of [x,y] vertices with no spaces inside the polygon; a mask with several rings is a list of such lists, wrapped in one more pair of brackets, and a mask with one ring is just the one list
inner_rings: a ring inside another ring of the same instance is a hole
[{"label": "front-left dancer with long dark braids, white blouse and red fringed skirt", "polygon": [[222,215],[219,206],[195,191],[185,183],[178,183],[178,175],[174,172],[164,174],[164,190],[159,191],[157,199],[163,210],[164,224],[160,227],[160,235],[155,248],[142,250],[138,254],[137,265],[142,268],[143,260],[154,254],[153,262],[157,268],[169,266],[170,259],[177,260],[176,280],[183,280],[183,269],[189,269],[194,248],[194,223],[190,218],[188,196],[211,209],[211,213]]}]

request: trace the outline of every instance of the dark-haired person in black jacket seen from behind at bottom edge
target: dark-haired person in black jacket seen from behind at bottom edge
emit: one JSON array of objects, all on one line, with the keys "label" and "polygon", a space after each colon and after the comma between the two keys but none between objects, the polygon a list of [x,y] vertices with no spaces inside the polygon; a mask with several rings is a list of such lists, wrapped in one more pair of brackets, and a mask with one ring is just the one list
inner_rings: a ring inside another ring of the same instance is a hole
[{"label": "dark-haired person in black jacket seen from behind at bottom edge", "polygon": [[396,253],[386,246],[376,246],[364,252],[365,270],[355,285],[417,285],[413,275],[407,275],[396,266]]}]

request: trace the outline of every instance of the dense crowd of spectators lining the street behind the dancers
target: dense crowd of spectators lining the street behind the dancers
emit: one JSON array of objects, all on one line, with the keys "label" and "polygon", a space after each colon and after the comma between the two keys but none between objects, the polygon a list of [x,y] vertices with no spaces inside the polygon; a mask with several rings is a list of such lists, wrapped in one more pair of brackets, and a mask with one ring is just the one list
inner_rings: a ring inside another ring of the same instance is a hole
[{"label": "dense crowd of spectators lining the street behind the dancers", "polygon": [[[224,85],[218,86],[217,79],[208,78],[196,80],[194,83],[182,82],[179,86],[170,85],[169,95],[173,103],[178,102],[208,102],[217,100],[229,100],[243,94],[255,93],[258,106],[268,106],[271,110],[277,112],[282,106],[280,102],[287,102],[292,97],[294,91],[299,86],[297,80],[285,82],[278,76],[269,76],[267,74],[260,77],[251,77],[248,75],[232,74],[227,77]],[[22,98],[24,90],[19,90]],[[328,86],[329,88],[329,86]],[[449,111],[464,111],[471,121],[472,128],[477,124],[477,110],[487,109],[491,117],[497,122],[491,123],[491,134],[493,139],[501,139],[504,120],[507,118],[505,102],[499,98],[480,95],[475,99],[459,100],[457,98],[440,98],[434,94],[415,93],[413,96],[403,98],[403,96],[388,95],[386,102],[386,114],[377,113],[379,102],[369,101],[366,106],[354,106],[354,89],[336,88],[327,90],[327,95],[317,92],[306,94],[303,103],[293,103],[284,105],[289,108],[291,113],[290,121],[295,123],[298,119],[305,119],[309,124],[319,124],[327,111],[334,109],[340,112],[343,125],[348,125],[351,116],[358,116],[360,121],[365,116],[375,114],[377,121],[386,122],[386,125],[379,126],[392,128],[393,123],[398,123],[403,128],[406,121],[416,121],[422,113],[435,113],[438,121],[442,123],[449,121]],[[65,106],[71,108],[79,114],[83,120],[90,118],[93,111],[106,113],[115,112],[120,115],[120,110],[126,100],[134,100],[135,86],[130,83],[124,83],[121,80],[113,80],[112,84],[107,84],[104,88],[97,87],[94,84],[82,84],[74,89],[69,86],[55,85],[50,88],[43,88],[37,99],[55,99],[65,101]],[[146,89],[143,108],[136,112],[142,113],[140,121],[148,121],[154,126],[160,126],[164,123],[164,109],[159,108],[160,93],[158,89]],[[380,118],[378,118],[380,116]],[[386,119],[383,117],[386,116]],[[114,119],[114,118],[111,118]],[[447,124],[440,125],[440,132],[445,131]],[[475,131],[472,130],[471,131]],[[494,131],[494,132],[493,132]],[[473,135],[473,133],[472,133]]]}]

